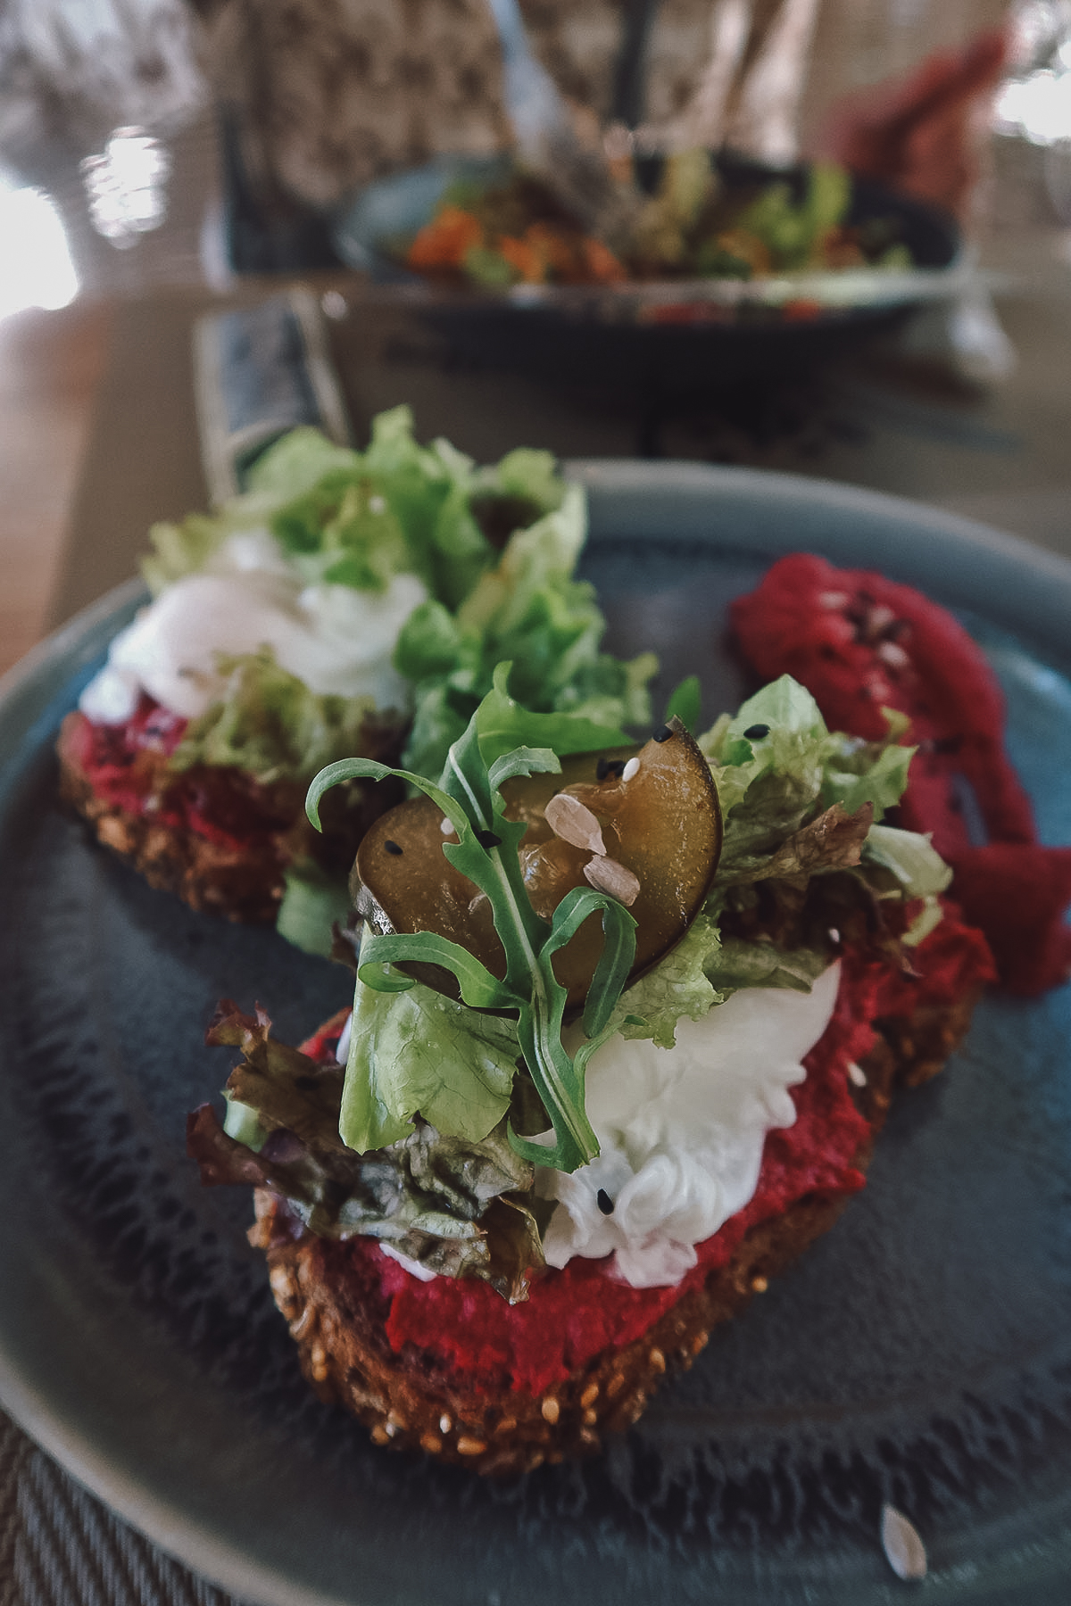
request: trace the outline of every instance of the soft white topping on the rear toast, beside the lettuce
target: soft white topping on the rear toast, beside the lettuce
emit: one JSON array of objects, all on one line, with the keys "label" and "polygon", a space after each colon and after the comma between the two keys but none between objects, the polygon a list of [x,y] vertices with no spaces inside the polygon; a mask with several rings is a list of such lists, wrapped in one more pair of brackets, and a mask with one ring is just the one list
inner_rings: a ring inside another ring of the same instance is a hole
[{"label": "soft white topping on the rear toast, beside the lettuce", "polygon": [[390,658],[401,626],[426,599],[416,575],[393,575],[385,591],[308,586],[268,530],[244,530],[116,636],[79,707],[98,724],[122,724],[145,691],[194,719],[223,692],[220,654],[270,647],[313,692],[371,697],[379,710],[401,711],[408,689]]}]

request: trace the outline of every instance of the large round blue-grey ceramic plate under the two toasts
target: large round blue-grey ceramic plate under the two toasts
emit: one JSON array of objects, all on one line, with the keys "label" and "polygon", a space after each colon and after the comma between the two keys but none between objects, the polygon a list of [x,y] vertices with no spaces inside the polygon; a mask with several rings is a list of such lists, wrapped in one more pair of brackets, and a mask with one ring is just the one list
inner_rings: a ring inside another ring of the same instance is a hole
[{"label": "large round blue-grey ceramic plate under the two toasts", "polygon": [[[960,609],[1010,707],[1042,834],[1071,840],[1071,565],[843,487],[586,464],[618,650],[735,700],[726,602],[811,548]],[[347,994],[271,931],[189,914],[55,803],[51,739],[120,593],[0,702],[0,1394],[165,1548],[265,1603],[867,1606],[906,1598],[890,1500],[935,1603],[1071,1588],[1071,989],[989,999],[894,1110],[840,1225],[604,1458],[496,1487],[374,1450],[305,1389],[246,1246],[202,1192],[188,1108],[226,1074],[220,994],[302,1036]]]}]

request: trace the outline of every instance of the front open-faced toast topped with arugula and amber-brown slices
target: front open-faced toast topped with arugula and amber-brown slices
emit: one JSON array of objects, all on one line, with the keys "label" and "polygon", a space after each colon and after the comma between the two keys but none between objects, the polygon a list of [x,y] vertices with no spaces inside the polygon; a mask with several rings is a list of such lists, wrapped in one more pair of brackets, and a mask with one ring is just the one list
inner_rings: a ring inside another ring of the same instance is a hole
[{"label": "front open-faced toast topped with arugula and amber-brown slices", "polygon": [[[482,1473],[633,1423],[864,1185],[992,978],[883,821],[894,716],[832,734],[785,676],[698,740],[576,756],[570,724],[498,671],[360,848],[352,1015],[299,1050],[223,1005],[226,1116],[189,1121],[204,1180],[257,1190],[318,1394]],[[331,766],[312,817],[390,776]]]}]

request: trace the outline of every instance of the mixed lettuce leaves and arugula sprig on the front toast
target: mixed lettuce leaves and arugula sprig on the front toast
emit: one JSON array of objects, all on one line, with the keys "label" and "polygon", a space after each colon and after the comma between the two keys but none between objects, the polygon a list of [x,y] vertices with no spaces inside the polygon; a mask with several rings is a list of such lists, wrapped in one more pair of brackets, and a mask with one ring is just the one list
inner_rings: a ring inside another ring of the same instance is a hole
[{"label": "mixed lettuce leaves and arugula sprig on the front toast", "polygon": [[[198,1111],[191,1152],[207,1180],[259,1180],[315,1232],[376,1237],[429,1270],[522,1299],[543,1264],[533,1168],[573,1171],[599,1150],[584,1110],[591,1054],[613,1033],[671,1047],[682,1018],[740,988],[809,991],[838,952],[833,920],[890,952],[909,949],[939,920],[949,872],[925,837],[875,824],[906,782],[902,728],[890,719],[883,744],[829,732],[784,678],[700,739],[724,814],[718,875],[676,948],[628,984],[631,914],[576,890],[552,920],[536,915],[519,866],[525,827],[506,817],[499,790],[512,776],[557,772],[559,755],[618,747],[621,732],[527,710],[507,676],[499,665],[437,784],[350,758],[321,771],[307,801],[315,824],[331,787],[387,776],[432,798],[458,838],[443,838],[445,858],[491,906],[504,973],[443,936],[366,923],[345,1071],[275,1044],[263,1017],[230,1005],[212,1041],[241,1044],[246,1058],[228,1082],[225,1127]],[[904,931],[898,915],[883,935],[882,909],[909,899],[922,909],[914,925]],[[583,1033],[570,1026],[564,1041],[565,989],[551,962],[593,912],[602,954]],[[414,981],[414,962],[448,970],[459,999]]]}]

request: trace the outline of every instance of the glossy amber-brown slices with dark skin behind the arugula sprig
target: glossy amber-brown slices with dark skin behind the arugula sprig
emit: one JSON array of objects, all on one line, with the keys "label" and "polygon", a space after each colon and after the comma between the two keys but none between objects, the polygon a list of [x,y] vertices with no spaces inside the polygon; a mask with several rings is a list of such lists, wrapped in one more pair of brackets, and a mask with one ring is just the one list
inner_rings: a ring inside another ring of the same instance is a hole
[{"label": "glossy amber-brown slices with dark skin behind the arugula sprig", "polygon": [[[633,771],[634,761],[636,768]],[[625,766],[629,779],[623,779]],[[602,825],[607,856],[639,880],[629,904],[636,920],[633,978],[666,954],[698,914],[718,869],[721,813],[710,766],[679,721],[641,748],[583,753],[562,760],[562,772],[507,781],[506,814],[523,819],[520,845],[525,888],[546,920],[565,893],[588,887],[593,854],[556,837],[546,805],[559,793],[578,798]],[[506,954],[488,899],[443,854],[442,809],[413,798],[382,814],[364,837],[355,864],[358,907],[381,931],[437,931],[467,948],[503,976]],[[602,920],[591,915],[556,957],[554,973],[570,1007],[583,1004],[602,951]],[[432,965],[406,967],[419,980],[456,996],[453,976]]]}]

